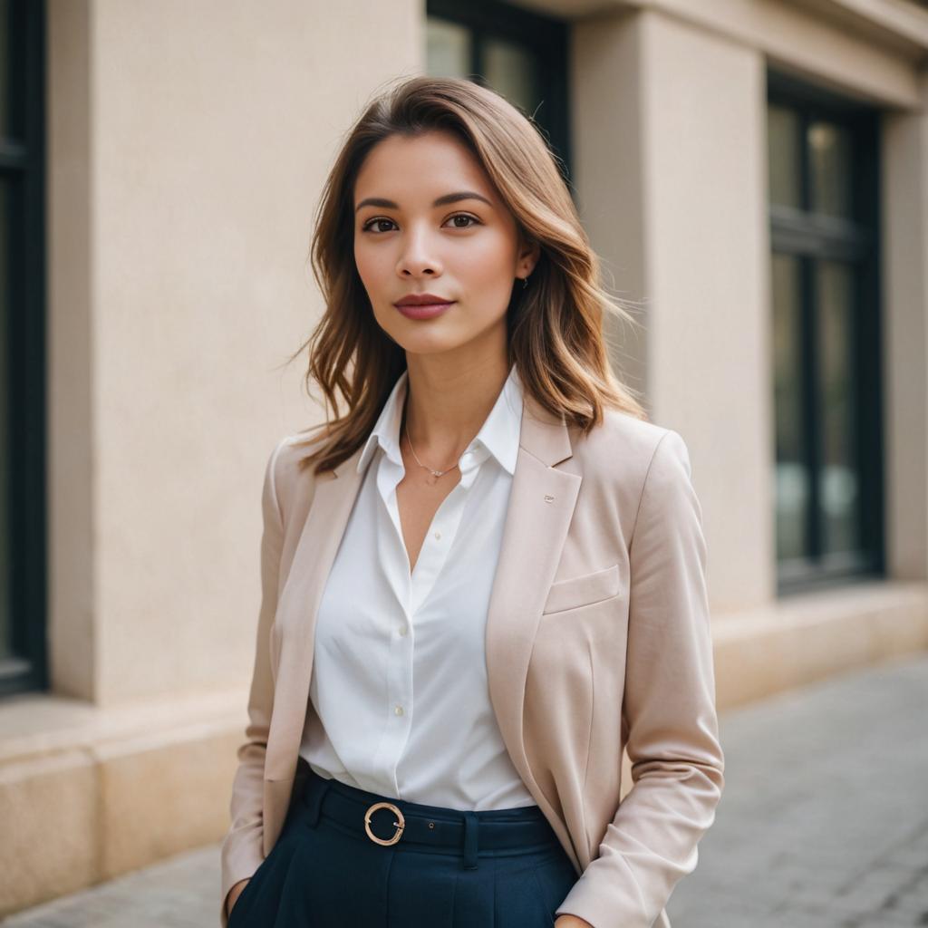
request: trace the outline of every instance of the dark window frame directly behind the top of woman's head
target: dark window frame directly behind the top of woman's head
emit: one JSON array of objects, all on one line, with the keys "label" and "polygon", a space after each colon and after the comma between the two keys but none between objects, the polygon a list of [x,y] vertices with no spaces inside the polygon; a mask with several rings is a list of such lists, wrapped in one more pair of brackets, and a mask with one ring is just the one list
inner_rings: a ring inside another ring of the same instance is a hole
[{"label": "dark window frame directly behind the top of woman's head", "polygon": [[457,23],[470,30],[470,72],[468,80],[486,85],[483,77],[485,39],[507,39],[529,48],[544,62],[539,69],[542,105],[526,113],[546,135],[548,147],[560,159],[558,165],[565,183],[573,191],[571,176],[570,100],[568,98],[568,24],[538,13],[509,6],[498,0],[427,0],[426,15]]}]

